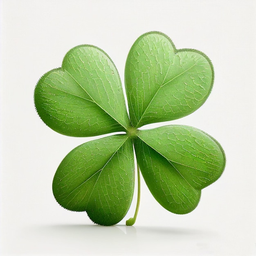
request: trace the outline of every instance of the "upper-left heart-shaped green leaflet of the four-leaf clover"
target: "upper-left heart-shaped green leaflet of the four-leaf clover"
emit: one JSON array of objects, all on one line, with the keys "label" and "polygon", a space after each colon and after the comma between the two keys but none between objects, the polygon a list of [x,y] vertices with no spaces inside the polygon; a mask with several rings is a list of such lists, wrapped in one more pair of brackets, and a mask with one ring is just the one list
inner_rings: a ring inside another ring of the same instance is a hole
[{"label": "upper-left heart-shaped green leaflet of the four-leaf clover", "polygon": [[91,45],[67,52],[62,67],[38,81],[34,98],[45,124],[64,135],[87,137],[129,126],[117,69],[105,52]]}]

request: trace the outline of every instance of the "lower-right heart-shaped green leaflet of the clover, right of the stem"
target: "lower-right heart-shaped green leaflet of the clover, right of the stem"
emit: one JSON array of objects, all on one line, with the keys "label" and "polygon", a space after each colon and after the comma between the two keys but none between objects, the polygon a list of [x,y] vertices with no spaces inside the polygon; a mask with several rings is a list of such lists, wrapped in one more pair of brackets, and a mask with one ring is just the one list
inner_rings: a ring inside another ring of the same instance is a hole
[{"label": "lower-right heart-shaped green leaflet of the clover, right of the stem", "polygon": [[140,130],[135,151],[151,193],[173,213],[192,211],[200,190],[216,181],[225,168],[220,144],[190,126]]}]

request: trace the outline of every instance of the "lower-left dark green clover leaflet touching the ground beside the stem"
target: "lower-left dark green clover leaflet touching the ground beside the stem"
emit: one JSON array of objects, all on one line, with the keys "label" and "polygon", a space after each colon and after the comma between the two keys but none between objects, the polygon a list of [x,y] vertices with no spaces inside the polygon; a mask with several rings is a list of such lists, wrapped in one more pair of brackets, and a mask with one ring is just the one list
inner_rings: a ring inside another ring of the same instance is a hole
[{"label": "lower-left dark green clover leaflet touching the ground beside the stem", "polygon": [[105,226],[124,218],[133,190],[133,148],[127,135],[112,135],[74,148],[53,180],[54,196],[61,206],[87,211],[93,222]]}]

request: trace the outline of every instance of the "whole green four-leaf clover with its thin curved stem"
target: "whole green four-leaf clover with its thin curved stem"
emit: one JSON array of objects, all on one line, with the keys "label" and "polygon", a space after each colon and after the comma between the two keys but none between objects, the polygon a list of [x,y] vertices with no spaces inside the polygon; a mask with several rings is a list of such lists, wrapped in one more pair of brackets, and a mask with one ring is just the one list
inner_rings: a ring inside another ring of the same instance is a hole
[{"label": "whole green four-leaf clover with its thin curved stem", "polygon": [[[138,181],[140,169],[155,199],[173,213],[195,209],[201,190],[224,170],[220,144],[190,126],[138,128],[191,114],[202,106],[212,85],[213,67],[205,54],[177,50],[160,32],[143,34],[126,61],[129,118],[110,57],[92,45],[67,52],[62,67],[47,72],[36,85],[34,100],[41,119],[68,136],[126,134],[89,141],[68,153],[53,180],[57,202],[71,211],[86,211],[100,225],[118,223],[132,202],[134,145]],[[138,206],[139,192],[135,217],[127,225],[134,224]]]}]

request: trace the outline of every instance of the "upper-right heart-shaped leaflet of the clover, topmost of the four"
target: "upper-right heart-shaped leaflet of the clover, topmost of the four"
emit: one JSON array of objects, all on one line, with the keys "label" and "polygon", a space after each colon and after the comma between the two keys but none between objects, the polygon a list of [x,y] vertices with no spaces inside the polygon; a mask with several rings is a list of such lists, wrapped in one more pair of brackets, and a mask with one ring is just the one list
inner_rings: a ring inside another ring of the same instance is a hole
[{"label": "upper-right heart-shaped leaflet of the clover, topmost of the four", "polygon": [[191,114],[213,84],[209,58],[193,49],[177,50],[168,36],[150,32],[132,45],[125,85],[132,125],[170,121]]}]

